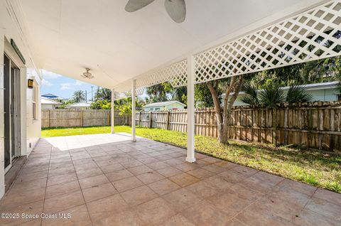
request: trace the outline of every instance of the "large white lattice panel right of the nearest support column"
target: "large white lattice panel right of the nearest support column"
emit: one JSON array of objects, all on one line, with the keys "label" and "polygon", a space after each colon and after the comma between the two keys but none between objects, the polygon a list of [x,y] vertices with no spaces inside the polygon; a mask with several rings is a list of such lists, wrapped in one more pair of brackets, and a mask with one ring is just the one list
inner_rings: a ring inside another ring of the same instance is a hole
[{"label": "large white lattice panel right of the nearest support column", "polygon": [[340,55],[341,1],[195,55],[196,83]]}]

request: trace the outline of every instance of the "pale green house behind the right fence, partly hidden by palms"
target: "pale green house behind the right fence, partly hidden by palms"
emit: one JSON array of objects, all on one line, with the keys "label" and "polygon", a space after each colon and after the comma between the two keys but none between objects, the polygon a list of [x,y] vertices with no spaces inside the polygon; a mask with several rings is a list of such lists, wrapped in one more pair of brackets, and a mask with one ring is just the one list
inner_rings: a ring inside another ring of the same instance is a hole
[{"label": "pale green house behind the right fence, partly hidden by palms", "polygon": [[[305,87],[308,93],[313,96],[312,102],[314,101],[335,101],[341,100],[340,90],[337,88],[339,82],[322,82],[322,83],[314,83],[302,85]],[[281,89],[286,94],[289,90],[289,86],[281,87]],[[231,94],[232,95],[232,94]],[[242,97],[245,95],[244,92],[240,92],[236,101],[234,102],[234,106],[243,106],[248,105],[242,102]]]}]

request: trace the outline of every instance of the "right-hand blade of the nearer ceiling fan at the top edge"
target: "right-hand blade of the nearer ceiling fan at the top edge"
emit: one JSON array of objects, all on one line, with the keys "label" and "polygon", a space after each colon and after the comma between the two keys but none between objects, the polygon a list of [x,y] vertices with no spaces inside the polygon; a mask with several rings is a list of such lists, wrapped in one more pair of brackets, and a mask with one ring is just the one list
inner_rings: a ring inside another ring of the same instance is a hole
[{"label": "right-hand blade of the nearer ceiling fan at the top edge", "polygon": [[165,8],[169,16],[176,23],[185,21],[186,4],[185,0],[165,0]]}]

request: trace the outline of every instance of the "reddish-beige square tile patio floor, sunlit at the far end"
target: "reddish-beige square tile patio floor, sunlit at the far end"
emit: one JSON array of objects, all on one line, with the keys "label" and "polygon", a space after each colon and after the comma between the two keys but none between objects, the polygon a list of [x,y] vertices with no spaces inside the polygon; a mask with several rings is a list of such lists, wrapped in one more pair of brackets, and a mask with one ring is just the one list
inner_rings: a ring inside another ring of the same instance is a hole
[{"label": "reddish-beige square tile patio floor, sunlit at the far end", "polygon": [[0,225],[341,225],[340,194],[196,157],[124,134],[40,139],[0,203],[20,216]]}]

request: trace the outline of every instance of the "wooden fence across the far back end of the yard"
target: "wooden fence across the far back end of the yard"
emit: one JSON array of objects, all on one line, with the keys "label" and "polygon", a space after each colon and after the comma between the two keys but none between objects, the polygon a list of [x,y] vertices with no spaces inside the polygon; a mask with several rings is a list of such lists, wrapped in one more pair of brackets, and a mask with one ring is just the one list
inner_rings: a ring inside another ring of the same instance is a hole
[{"label": "wooden fence across the far back end of the yard", "polygon": [[[115,111],[115,125],[131,125],[131,116]],[[92,127],[111,125],[111,110],[53,109],[41,111],[41,127]]]}]

